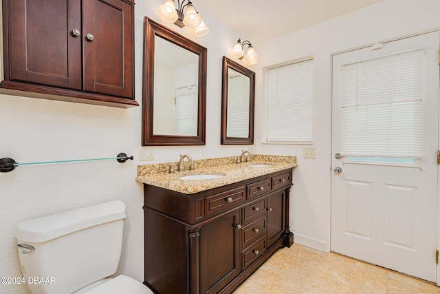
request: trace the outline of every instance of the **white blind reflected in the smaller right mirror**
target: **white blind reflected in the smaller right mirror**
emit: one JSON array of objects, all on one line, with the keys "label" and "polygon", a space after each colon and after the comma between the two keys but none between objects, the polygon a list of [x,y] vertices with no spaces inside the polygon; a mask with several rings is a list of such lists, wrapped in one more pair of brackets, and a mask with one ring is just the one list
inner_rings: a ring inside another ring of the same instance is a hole
[{"label": "white blind reflected in the smaller right mirror", "polygon": [[228,78],[228,122],[229,137],[248,138],[250,78],[243,75]]}]

